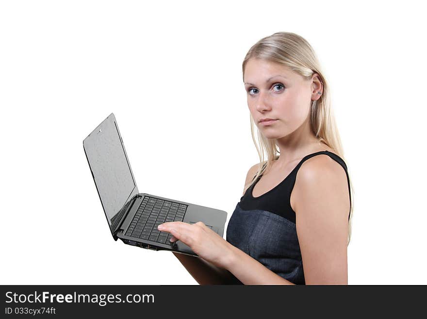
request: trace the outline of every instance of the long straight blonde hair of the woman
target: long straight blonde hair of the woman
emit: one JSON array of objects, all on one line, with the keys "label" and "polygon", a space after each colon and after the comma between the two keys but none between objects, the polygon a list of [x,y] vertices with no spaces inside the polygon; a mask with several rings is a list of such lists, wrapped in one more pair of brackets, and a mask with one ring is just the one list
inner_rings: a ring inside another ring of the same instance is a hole
[{"label": "long straight blonde hair of the woman", "polygon": [[[340,135],[335,123],[335,117],[333,115],[331,101],[329,96],[329,85],[323,76],[323,72],[320,67],[320,63],[317,56],[312,49],[311,45],[302,36],[290,32],[277,32],[275,34],[266,36],[255,43],[249,51],[246,53],[245,59],[243,60],[242,68],[243,74],[245,74],[245,66],[249,59],[256,58],[272,63],[277,63],[281,66],[289,67],[292,71],[301,75],[304,79],[309,80],[314,73],[318,74],[320,81],[323,83],[323,90],[320,99],[312,101],[311,105],[311,119],[310,125],[313,134],[320,141],[323,141],[328,145],[335,153],[340,156],[345,163],[347,161],[344,157],[344,151],[341,144]],[[245,81],[245,79],[244,79]],[[266,138],[257,129],[258,132],[258,143],[260,144],[261,150],[257,145],[254,134],[254,127],[256,127],[254,118],[250,116],[250,131],[252,140],[258,151],[260,157],[260,163],[258,171],[252,182],[245,185],[245,189],[251,186],[257,178],[273,164],[273,160],[279,158],[279,149],[277,145],[277,139]],[[267,160],[264,160],[264,153],[267,154]],[[266,164],[266,165],[264,165]],[[348,173],[348,167],[347,167]],[[350,182],[350,219],[348,221],[348,237],[347,246],[350,243],[351,237],[351,221],[353,218],[353,185],[351,183],[350,174],[348,173]]]}]

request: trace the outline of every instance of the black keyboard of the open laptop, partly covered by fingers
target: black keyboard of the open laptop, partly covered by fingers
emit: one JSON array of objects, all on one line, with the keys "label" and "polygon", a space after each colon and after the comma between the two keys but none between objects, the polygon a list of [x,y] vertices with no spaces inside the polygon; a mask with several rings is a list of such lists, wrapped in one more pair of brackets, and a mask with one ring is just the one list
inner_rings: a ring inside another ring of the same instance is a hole
[{"label": "black keyboard of the open laptop, partly covered by fingers", "polygon": [[164,201],[153,197],[144,197],[126,235],[147,239],[159,243],[170,243],[172,235],[161,232],[157,226],[168,221],[182,221],[187,205],[173,201]]}]

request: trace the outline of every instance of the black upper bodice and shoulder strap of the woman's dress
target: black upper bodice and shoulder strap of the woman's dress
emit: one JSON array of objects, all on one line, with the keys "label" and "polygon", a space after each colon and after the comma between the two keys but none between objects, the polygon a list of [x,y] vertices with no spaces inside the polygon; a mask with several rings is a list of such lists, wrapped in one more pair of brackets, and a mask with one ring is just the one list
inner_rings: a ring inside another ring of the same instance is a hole
[{"label": "black upper bodice and shoulder strap of the woman's dress", "polygon": [[[260,175],[255,183],[253,183],[245,192],[245,194],[240,199],[240,207],[244,210],[250,209],[262,209],[272,213],[275,213],[281,217],[287,218],[295,223],[296,215],[295,211],[291,207],[291,193],[296,181],[296,173],[301,165],[308,160],[309,158],[318,155],[318,154],[327,154],[333,160],[338,162],[345,170],[345,175],[347,176],[347,185],[348,185],[348,194],[349,200],[351,202],[351,193],[350,193],[350,180],[348,178],[347,166],[345,165],[344,160],[339,157],[337,154],[331,153],[330,151],[318,151],[312,154],[309,154],[301,159],[301,161],[296,165],[296,167],[289,173],[289,175],[280,182],[279,185],[264,193],[261,196],[253,197],[252,190],[258,181],[261,179]],[[264,164],[265,166],[266,164]],[[255,178],[255,176],[254,176]],[[253,179],[252,179],[253,180]],[[350,219],[350,213],[348,214],[348,219]]]}]

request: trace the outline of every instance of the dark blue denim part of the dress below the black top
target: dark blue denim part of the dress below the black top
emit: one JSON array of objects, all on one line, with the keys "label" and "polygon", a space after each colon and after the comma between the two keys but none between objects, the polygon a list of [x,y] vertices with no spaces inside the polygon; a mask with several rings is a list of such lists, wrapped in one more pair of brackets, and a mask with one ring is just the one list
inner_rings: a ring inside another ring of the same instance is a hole
[{"label": "dark blue denim part of the dress below the black top", "polygon": [[305,285],[296,225],[289,219],[259,209],[243,210],[237,203],[226,240],[280,277]]}]

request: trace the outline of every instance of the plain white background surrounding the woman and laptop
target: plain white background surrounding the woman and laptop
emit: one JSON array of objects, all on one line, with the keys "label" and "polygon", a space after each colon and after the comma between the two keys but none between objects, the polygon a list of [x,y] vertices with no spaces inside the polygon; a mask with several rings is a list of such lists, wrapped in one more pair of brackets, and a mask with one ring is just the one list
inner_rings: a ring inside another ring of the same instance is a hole
[{"label": "plain white background surrounding the woman and laptop", "polygon": [[227,226],[258,161],[242,61],[279,31],[331,86],[355,187],[348,283],[427,284],[425,11],[295,2],[2,1],[1,284],[197,284],[171,252],[113,240],[82,141],[114,112],[139,191]]}]

